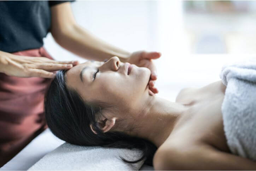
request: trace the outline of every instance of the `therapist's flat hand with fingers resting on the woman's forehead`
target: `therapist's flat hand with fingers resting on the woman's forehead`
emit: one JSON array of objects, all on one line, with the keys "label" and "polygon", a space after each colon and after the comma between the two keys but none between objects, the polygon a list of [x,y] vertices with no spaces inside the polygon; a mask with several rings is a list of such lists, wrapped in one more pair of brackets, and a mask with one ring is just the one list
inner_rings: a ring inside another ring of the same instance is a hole
[{"label": "therapist's flat hand with fingers resting on the woman's forehead", "polygon": [[55,61],[45,57],[26,57],[3,53],[0,56],[0,72],[16,77],[53,78],[53,71],[70,69],[78,61]]}]

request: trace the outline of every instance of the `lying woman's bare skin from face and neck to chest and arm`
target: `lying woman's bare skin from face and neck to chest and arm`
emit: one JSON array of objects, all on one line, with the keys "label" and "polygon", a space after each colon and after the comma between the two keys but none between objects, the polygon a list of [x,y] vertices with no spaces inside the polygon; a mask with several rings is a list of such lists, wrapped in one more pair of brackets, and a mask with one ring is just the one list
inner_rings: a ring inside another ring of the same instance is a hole
[{"label": "lying woman's bare skin from face and neck to chest and arm", "polygon": [[[170,102],[150,93],[149,69],[134,66],[127,75],[126,65],[113,57],[66,72],[67,86],[84,101],[100,100],[110,106],[103,109],[105,117],[97,118],[103,132],[122,131],[154,143],[158,148],[155,170],[256,169],[254,161],[231,154],[227,146],[221,113],[226,86],[221,81],[182,89],[176,101]],[[80,72],[85,66],[91,67],[82,82]]]}]

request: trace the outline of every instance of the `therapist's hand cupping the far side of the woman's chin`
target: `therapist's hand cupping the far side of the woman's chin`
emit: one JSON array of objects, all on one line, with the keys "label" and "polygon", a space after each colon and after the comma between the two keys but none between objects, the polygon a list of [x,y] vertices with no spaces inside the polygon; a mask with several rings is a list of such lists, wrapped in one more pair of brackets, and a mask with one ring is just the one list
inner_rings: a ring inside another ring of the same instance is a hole
[{"label": "therapist's hand cupping the far side of the woman's chin", "polygon": [[161,53],[159,52],[138,51],[132,53],[127,59],[127,62],[129,62],[130,64],[135,64],[139,67],[147,67],[148,69],[150,69],[151,75],[149,81],[149,89],[153,93],[158,93],[158,89],[155,87],[157,71],[152,59],[157,59],[159,57],[161,57]]}]

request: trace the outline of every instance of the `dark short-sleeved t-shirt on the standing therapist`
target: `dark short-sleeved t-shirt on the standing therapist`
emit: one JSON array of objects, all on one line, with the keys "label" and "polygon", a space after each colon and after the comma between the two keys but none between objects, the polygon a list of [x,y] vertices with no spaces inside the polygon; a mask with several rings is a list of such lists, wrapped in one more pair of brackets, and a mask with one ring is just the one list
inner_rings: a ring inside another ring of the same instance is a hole
[{"label": "dark short-sleeved t-shirt on the standing therapist", "polygon": [[62,2],[0,1],[0,51],[42,47],[51,26],[50,7]]}]

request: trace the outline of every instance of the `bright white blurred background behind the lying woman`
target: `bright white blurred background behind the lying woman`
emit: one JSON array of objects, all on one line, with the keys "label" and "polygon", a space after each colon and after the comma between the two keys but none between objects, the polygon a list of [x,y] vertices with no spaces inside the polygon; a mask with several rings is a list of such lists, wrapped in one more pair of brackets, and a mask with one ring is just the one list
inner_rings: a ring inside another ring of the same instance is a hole
[{"label": "bright white blurred background behind the lying woman", "polygon": [[[75,1],[77,23],[129,52],[158,51],[158,96],[175,101],[182,88],[219,81],[223,64],[256,53],[256,1]],[[86,59],[60,47],[51,33],[45,48],[56,60]]]}]

